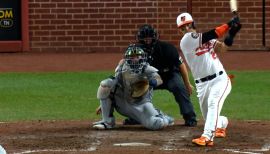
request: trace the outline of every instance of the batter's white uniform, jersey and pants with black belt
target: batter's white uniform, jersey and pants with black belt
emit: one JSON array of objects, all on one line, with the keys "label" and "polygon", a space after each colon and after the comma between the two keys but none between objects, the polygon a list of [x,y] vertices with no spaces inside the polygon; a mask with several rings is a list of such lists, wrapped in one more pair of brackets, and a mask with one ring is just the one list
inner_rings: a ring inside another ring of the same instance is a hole
[{"label": "batter's white uniform, jersey and pants with black belt", "polygon": [[216,128],[226,128],[228,119],[220,116],[225,98],[231,91],[231,82],[218,59],[214,46],[216,39],[201,44],[201,33],[186,33],[180,48],[195,79],[197,97],[205,119],[202,136],[213,140]]}]

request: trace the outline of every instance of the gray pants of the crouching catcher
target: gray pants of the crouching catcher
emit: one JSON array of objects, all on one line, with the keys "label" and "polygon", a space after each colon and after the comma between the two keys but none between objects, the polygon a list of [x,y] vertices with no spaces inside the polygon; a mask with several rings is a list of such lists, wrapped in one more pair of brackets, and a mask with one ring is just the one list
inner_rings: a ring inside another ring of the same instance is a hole
[{"label": "gray pants of the crouching catcher", "polygon": [[[151,92],[148,92],[142,99],[139,99],[139,102],[134,101],[131,103],[127,99],[123,99],[121,91],[118,91],[114,95],[113,107],[121,115],[140,122],[147,129],[162,129],[168,126],[169,117],[154,108],[151,102],[151,97]],[[108,104],[112,104],[112,100],[110,98],[101,100],[101,108],[102,112],[104,112],[102,115],[105,122],[107,121],[106,119],[110,119],[110,115],[108,113],[111,110],[111,105]]]}]

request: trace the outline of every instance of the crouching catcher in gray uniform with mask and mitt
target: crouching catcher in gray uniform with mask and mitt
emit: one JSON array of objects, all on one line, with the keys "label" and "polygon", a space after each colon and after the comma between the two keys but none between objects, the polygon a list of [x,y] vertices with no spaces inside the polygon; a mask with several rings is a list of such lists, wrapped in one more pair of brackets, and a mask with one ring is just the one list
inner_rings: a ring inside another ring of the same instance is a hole
[{"label": "crouching catcher in gray uniform with mask and mitt", "polygon": [[97,98],[100,100],[102,120],[93,123],[93,128],[114,128],[114,109],[137,120],[147,129],[158,130],[173,125],[173,118],[155,109],[152,104],[153,87],[162,84],[157,71],[146,62],[142,48],[130,45],[115,69],[115,76],[100,83]]}]

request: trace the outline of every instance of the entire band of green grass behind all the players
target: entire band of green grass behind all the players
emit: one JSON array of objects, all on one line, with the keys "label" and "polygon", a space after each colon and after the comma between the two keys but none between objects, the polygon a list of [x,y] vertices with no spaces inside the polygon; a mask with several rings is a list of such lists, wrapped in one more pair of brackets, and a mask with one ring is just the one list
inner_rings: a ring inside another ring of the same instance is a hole
[{"label": "entire band of green grass behind all the players", "polygon": [[[229,73],[236,78],[222,114],[230,119],[270,120],[270,72]],[[96,91],[99,82],[110,74],[2,73],[0,121],[99,119],[95,115],[99,105]],[[200,119],[196,92],[191,99]],[[180,117],[178,105],[165,90],[155,91],[154,105],[165,113]]]}]

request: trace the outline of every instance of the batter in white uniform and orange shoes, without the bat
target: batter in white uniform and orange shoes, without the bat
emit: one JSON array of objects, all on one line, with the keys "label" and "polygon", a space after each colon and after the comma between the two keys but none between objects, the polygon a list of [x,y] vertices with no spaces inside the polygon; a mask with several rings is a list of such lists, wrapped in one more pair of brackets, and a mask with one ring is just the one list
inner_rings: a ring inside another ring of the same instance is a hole
[{"label": "batter in white uniform and orange shoes, without the bat", "polygon": [[[216,52],[226,51],[233,44],[233,38],[240,30],[238,17],[205,33],[197,33],[192,16],[182,13],[177,17],[177,26],[184,35],[180,48],[195,79],[197,97],[202,116],[205,119],[201,137],[192,142],[201,146],[212,146],[214,137],[225,137],[228,119],[220,116],[223,103],[231,91],[231,81],[227,76]],[[228,31],[224,42],[217,38]]]}]

